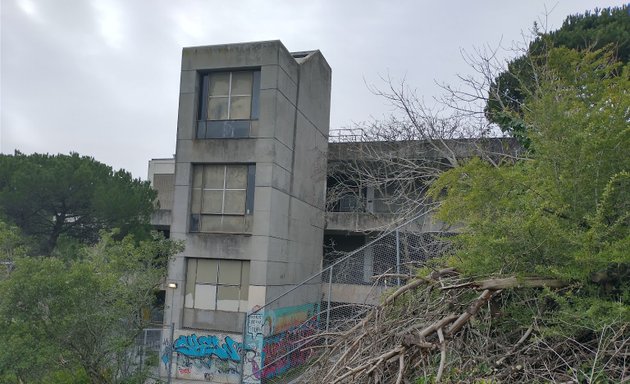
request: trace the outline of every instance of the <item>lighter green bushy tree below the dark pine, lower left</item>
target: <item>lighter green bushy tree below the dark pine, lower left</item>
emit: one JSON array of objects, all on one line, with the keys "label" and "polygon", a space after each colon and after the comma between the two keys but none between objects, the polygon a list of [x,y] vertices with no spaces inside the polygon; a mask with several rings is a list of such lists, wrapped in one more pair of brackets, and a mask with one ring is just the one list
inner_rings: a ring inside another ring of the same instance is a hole
[{"label": "lighter green bushy tree below the dark pine, lower left", "polygon": [[160,237],[106,234],[79,259],[14,257],[0,279],[0,381],[129,380],[137,374],[129,349],[147,324],[141,312],[179,250]]}]

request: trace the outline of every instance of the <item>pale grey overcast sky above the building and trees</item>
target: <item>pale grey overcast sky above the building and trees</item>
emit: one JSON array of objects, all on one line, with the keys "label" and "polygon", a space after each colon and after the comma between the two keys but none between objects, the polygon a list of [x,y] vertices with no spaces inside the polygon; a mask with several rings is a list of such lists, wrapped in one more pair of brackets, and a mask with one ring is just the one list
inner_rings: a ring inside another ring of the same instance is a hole
[{"label": "pale grey overcast sky above the building and trees", "polygon": [[[509,47],[597,0],[0,0],[0,151],[78,152],[146,178],[175,151],[182,47],[282,40],[333,70],[331,128],[390,111],[367,84],[427,99],[470,71],[461,50]],[[548,14],[545,16],[545,14]]]}]

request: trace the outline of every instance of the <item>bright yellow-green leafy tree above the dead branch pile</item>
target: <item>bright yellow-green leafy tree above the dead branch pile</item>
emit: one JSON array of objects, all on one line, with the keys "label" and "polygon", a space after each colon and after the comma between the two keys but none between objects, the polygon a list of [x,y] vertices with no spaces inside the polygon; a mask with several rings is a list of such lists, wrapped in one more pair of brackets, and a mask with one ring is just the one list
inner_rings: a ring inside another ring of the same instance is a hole
[{"label": "bright yellow-green leafy tree above the dead branch pile", "polygon": [[630,249],[630,65],[554,48],[525,100],[527,160],[447,172],[440,218],[464,223],[453,262],[469,273],[586,281]]}]

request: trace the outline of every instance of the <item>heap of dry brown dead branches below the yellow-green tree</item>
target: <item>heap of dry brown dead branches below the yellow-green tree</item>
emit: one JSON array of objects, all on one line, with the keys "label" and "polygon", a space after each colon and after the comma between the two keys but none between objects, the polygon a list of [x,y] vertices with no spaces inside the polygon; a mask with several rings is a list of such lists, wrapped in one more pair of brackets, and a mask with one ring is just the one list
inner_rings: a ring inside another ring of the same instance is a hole
[{"label": "heap of dry brown dead branches below the yellow-green tree", "polygon": [[[537,288],[565,286],[547,279],[464,280],[450,269],[410,278],[360,321],[318,335],[324,345],[300,382],[629,381],[628,323],[584,329],[579,339],[544,333]],[[508,302],[538,315],[529,327],[514,326],[501,312]]]}]

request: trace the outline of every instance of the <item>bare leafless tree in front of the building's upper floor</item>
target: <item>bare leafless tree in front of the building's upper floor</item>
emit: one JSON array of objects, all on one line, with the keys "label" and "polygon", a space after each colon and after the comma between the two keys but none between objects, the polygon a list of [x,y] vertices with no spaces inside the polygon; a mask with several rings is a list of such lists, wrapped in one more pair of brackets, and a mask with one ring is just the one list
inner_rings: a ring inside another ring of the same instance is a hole
[{"label": "bare leafless tree in front of the building's upper floor", "polygon": [[512,139],[493,138],[485,119],[456,109],[432,110],[404,82],[387,79],[386,88],[373,91],[391,103],[391,116],[331,135],[343,145],[329,146],[328,211],[345,199],[353,202],[347,209],[366,212],[372,201],[381,206],[377,213],[395,213],[391,217],[401,223],[436,207],[426,192],[443,172],[476,156],[498,164],[521,150]]}]

